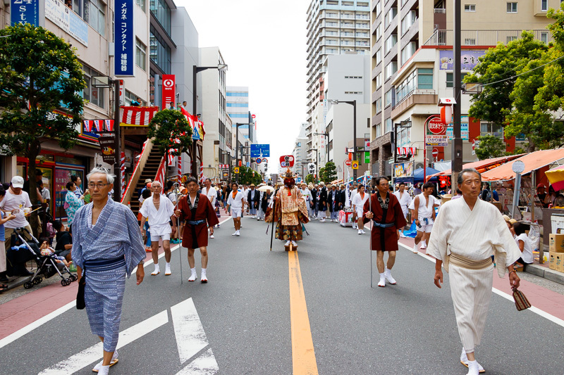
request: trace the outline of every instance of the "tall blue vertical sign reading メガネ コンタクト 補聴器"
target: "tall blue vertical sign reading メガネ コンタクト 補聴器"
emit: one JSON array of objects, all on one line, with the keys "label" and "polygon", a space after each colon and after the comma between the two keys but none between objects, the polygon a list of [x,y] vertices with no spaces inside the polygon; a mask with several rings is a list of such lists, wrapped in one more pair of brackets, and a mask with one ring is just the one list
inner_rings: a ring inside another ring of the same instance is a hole
[{"label": "tall blue vertical sign reading \u30e1\u30ac\u30cd \u30b3\u30f3\u30bf\u30af\u30c8 \u88dc\u8074\u5668", "polygon": [[133,0],[116,0],[115,74],[135,77],[135,34],[133,33]]}]

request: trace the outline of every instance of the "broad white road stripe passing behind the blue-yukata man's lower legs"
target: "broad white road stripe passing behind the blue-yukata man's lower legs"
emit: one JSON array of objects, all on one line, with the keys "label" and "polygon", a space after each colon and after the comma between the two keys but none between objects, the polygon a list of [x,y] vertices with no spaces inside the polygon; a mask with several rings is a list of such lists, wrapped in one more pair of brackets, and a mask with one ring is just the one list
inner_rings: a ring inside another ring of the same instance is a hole
[{"label": "broad white road stripe passing behind the blue-yukata man's lower legs", "polygon": [[[147,333],[154,331],[155,329],[168,323],[168,313],[166,310],[159,312],[159,314],[153,315],[149,319],[145,319],[143,322],[131,326],[125,331],[119,334],[118,346],[116,349],[123,348],[123,346],[132,343]],[[97,343],[92,345],[90,348],[82,350],[78,354],[69,357],[66,360],[55,364],[49,369],[44,369],[39,373],[39,375],[66,375],[73,374],[80,369],[87,367],[89,364],[97,362],[102,359],[103,344]]]}]

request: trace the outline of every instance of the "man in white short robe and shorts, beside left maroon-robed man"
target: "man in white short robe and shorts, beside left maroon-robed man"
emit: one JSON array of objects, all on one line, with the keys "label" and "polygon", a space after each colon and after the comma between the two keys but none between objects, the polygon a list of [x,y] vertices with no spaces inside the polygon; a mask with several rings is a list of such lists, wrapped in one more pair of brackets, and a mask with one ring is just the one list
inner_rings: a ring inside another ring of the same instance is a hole
[{"label": "man in white short robe and shorts, beside left maroon-robed man", "polygon": [[[166,196],[161,195],[163,187],[161,183],[155,181],[151,185],[153,195],[151,198],[145,199],[139,210],[141,217],[141,232],[144,230],[145,220],[149,219],[151,227],[151,248],[154,262],[154,271],[152,276],[161,273],[159,267],[159,241],[163,241],[164,259],[166,266],[164,274],[171,275],[171,232],[176,231],[176,217],[174,216],[174,205]],[[171,224],[172,222],[172,228]]]}]

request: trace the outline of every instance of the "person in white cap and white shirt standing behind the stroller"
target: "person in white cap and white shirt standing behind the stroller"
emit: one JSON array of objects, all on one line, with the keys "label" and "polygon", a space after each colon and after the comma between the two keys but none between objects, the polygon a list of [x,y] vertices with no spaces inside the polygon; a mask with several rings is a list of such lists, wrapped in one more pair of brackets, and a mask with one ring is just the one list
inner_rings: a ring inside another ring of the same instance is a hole
[{"label": "person in white cap and white shirt standing behind the stroller", "polygon": [[[30,223],[27,222],[26,214],[31,211],[30,195],[23,191],[23,177],[14,176],[10,183],[10,188],[6,191],[6,196],[0,202],[0,210],[6,214],[15,215],[16,218],[6,222],[5,227],[5,246],[7,249],[11,247],[11,236],[16,228],[25,228],[32,233]],[[17,269],[18,274],[27,275],[25,267]]]}]

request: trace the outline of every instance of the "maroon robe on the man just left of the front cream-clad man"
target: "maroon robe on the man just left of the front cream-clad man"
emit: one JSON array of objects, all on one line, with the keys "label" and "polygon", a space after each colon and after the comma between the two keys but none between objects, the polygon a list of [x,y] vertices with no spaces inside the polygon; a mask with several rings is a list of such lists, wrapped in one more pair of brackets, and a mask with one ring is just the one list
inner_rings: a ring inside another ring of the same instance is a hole
[{"label": "maroon robe on the man just left of the front cream-clad man", "polygon": [[405,227],[407,222],[405,221],[400,202],[396,196],[388,191],[386,199],[382,201],[384,203],[384,208],[381,207],[381,204],[378,201],[379,196],[380,193],[376,191],[376,193],[372,194],[370,198],[364,202],[362,221],[364,224],[370,221],[370,219],[367,219],[366,214],[371,210],[372,204],[372,214],[374,215],[372,219],[375,222],[394,224],[393,227],[389,228],[381,228],[373,225],[370,234],[372,236],[372,250],[397,251],[398,229],[401,230]]}]

